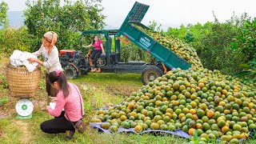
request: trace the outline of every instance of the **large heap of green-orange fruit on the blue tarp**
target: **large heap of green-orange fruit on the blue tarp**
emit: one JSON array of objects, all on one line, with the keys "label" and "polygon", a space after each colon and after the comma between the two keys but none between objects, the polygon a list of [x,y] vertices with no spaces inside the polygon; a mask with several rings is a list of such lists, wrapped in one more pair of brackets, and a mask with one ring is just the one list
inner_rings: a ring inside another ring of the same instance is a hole
[{"label": "large heap of green-orange fruit on the blue tarp", "polygon": [[173,69],[133,92],[125,102],[98,110],[91,122],[117,131],[196,131],[202,140],[237,142],[256,128],[256,86],[218,70]]}]

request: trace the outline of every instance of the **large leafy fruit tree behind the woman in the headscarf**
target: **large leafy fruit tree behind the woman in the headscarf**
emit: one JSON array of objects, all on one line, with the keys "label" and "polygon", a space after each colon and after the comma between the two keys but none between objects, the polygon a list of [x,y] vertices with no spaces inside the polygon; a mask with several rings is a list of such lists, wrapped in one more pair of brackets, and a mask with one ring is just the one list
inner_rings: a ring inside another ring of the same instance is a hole
[{"label": "large leafy fruit tree behind the woman in the headscarf", "polygon": [[104,25],[102,20],[105,16],[101,14],[99,2],[101,0],[66,0],[64,3],[60,0],[35,0],[33,5],[26,2],[28,9],[24,12],[24,18],[33,39],[31,51],[38,50],[42,44],[42,35],[50,30],[58,34],[56,46],[59,50],[76,50],[82,30],[98,30]]}]

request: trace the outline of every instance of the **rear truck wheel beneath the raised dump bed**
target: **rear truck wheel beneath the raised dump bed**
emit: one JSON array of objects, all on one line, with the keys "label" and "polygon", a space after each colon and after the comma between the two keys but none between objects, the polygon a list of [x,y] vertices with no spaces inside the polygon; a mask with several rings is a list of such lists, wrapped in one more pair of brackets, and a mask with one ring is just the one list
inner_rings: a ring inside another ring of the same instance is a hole
[{"label": "rear truck wheel beneath the raised dump bed", "polygon": [[154,81],[155,78],[162,76],[162,70],[157,66],[148,66],[142,71],[142,83],[144,85]]}]

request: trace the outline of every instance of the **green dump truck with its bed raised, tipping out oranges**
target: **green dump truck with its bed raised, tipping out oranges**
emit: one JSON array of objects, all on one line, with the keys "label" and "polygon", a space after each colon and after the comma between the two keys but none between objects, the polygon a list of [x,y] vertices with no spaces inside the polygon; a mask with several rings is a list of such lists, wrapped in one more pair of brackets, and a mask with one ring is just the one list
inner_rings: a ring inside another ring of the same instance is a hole
[{"label": "green dump truck with its bed raised, tipping out oranges", "polygon": [[[154,81],[155,78],[162,76],[162,74],[166,74],[172,68],[179,67],[182,70],[190,68],[189,62],[136,27],[141,26],[143,29],[150,30],[141,23],[149,7],[140,2],[135,2],[119,30],[85,30],[82,32],[80,38],[98,34],[106,39],[104,46],[106,57],[102,57],[98,61],[98,72],[140,73],[142,74],[142,83],[146,85],[148,82]],[[114,42],[112,42],[112,39],[114,39]],[[121,42],[125,44],[133,42],[152,55],[154,59],[151,62],[121,62]],[[112,46],[112,43],[114,46]],[[90,54],[91,50],[85,55],[81,51],[60,50],[59,56],[67,78],[77,78],[79,75],[87,74],[92,70]]]}]

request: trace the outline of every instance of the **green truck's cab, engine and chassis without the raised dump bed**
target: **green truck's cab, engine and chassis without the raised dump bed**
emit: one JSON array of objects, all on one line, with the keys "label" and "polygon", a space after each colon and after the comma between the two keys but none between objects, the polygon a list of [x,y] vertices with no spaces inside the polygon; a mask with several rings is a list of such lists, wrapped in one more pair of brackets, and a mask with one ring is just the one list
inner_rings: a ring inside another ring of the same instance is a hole
[{"label": "green truck's cab, engine and chassis without the raised dump bed", "polygon": [[[101,55],[98,59],[98,70],[96,72],[106,73],[142,73],[142,82],[147,84],[155,78],[162,76],[164,68],[162,62],[120,62],[120,39],[116,37],[118,30],[86,30],[81,34],[85,35],[98,34],[106,38],[104,48],[106,56]],[[112,48],[112,39],[114,39],[114,48]],[[77,78],[81,74],[87,74],[92,70],[93,64],[90,54],[94,48],[83,54],[81,50],[60,50],[59,58],[67,78]],[[170,70],[170,69],[167,69]]]}]

